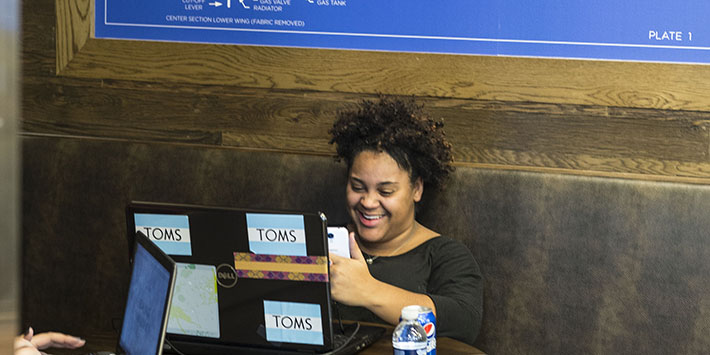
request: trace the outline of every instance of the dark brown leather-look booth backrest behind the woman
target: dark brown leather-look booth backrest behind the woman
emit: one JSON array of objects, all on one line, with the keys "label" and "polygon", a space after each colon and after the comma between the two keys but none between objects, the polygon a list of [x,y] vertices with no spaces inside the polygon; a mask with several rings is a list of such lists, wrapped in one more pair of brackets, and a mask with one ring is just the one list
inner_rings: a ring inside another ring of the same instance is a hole
[{"label": "dark brown leather-look booth backrest behind the woman", "polygon": [[[332,158],[23,138],[23,320],[110,332],[121,317],[131,200],[325,212]],[[460,167],[419,216],[462,240],[485,278],[490,354],[710,349],[710,187]]]}]

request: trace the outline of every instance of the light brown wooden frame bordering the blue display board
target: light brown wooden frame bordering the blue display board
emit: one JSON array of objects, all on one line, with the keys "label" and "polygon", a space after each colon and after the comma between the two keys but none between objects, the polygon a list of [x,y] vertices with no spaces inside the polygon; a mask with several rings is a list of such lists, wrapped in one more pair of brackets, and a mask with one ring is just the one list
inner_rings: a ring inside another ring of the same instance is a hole
[{"label": "light brown wooden frame bordering the blue display board", "polygon": [[710,66],[88,38],[88,0],[57,0],[57,71],[82,78],[710,110]]}]

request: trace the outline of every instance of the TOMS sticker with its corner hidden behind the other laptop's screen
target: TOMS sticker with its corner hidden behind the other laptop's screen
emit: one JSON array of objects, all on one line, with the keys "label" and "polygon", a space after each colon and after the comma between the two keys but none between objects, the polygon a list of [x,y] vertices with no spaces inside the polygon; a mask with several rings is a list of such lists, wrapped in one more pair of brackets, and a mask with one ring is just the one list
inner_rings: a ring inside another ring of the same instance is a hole
[{"label": "TOMS sticker with its corner hidden behind the other laptop's screen", "polygon": [[135,213],[133,218],[136,232],[143,232],[165,254],[192,255],[190,221],[187,216]]}]

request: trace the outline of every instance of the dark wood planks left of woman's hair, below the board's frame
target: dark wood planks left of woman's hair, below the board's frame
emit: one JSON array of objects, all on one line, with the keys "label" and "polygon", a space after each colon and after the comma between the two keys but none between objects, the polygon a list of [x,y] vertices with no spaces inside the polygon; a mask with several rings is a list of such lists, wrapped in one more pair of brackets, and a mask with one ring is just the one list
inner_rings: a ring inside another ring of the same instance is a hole
[{"label": "dark wood planks left of woman's hair, below the board's frame", "polygon": [[104,84],[25,83],[24,129],[257,149],[285,149],[284,142],[296,139],[294,149],[323,153],[322,142],[314,149],[311,141],[325,140],[327,148],[335,112],[344,101],[355,101],[352,95],[327,93],[314,97],[234,87],[176,89],[155,84],[137,89],[132,82]]}]

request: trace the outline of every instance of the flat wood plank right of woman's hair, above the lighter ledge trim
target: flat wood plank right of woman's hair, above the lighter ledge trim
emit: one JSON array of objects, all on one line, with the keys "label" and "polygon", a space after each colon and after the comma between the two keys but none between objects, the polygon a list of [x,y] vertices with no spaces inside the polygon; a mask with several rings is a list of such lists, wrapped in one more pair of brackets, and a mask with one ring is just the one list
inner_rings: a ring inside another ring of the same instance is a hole
[{"label": "flat wood plank right of woman's hair, above the lighter ledge trim", "polygon": [[436,112],[449,118],[448,131],[453,132],[451,140],[456,146],[686,161],[708,158],[705,127],[687,122],[679,113],[668,113],[666,120],[649,121],[644,116],[629,119],[463,107]]}]

